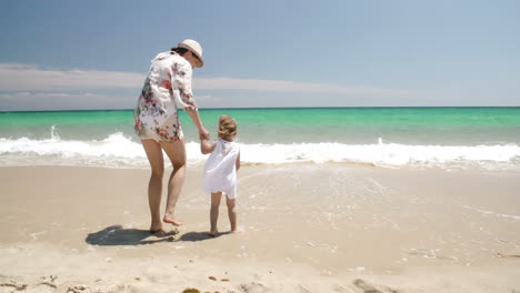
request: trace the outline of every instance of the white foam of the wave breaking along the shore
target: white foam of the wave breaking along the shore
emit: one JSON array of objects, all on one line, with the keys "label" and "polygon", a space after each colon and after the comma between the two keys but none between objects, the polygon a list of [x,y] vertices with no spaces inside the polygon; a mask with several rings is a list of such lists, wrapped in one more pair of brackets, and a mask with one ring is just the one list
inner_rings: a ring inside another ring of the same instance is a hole
[{"label": "white foam of the wave breaking along the shore", "polygon": [[[121,132],[103,140],[63,140],[53,131],[47,140],[0,139],[1,165],[90,165],[148,168],[144,150]],[[208,155],[198,142],[188,142],[188,163],[201,164]],[[384,168],[441,168],[466,170],[520,170],[520,146],[409,145],[384,142],[346,144],[336,142],[249,144],[240,142],[244,164],[344,162]]]}]

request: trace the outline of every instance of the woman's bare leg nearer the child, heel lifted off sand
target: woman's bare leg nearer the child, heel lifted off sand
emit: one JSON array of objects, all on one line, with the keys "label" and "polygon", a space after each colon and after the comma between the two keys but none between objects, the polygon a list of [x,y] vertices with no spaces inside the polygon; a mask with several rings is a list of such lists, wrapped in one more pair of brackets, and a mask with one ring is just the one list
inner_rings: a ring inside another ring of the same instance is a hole
[{"label": "woman's bare leg nearer the child, heel lifted off sand", "polygon": [[170,158],[173,171],[168,181],[168,200],[162,221],[173,225],[182,225],[176,216],[176,205],[182,191],[186,176],[186,146],[182,140],[178,142],[161,142],[161,148]]}]

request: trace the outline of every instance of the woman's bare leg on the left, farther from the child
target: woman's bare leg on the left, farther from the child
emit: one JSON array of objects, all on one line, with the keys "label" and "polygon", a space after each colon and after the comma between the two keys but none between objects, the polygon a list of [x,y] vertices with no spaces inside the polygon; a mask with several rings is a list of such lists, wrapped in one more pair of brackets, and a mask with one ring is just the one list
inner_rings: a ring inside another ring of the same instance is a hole
[{"label": "woman's bare leg on the left, farther from the child", "polygon": [[141,140],[141,143],[151,166],[150,182],[148,183],[148,204],[150,205],[151,213],[150,231],[157,232],[162,229],[160,206],[164,160],[162,158],[161,145],[157,141]]}]

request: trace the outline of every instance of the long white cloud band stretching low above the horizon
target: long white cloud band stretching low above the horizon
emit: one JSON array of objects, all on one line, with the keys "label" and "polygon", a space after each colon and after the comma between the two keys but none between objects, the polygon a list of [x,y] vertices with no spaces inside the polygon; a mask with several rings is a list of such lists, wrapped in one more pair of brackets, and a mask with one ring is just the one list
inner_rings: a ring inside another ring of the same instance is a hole
[{"label": "long white cloud band stretching low above the horizon", "polygon": [[[139,89],[146,75],[136,72],[44,70],[30,64],[0,63],[0,91],[87,91]],[[370,87],[333,85],[284,80],[194,78],[196,90],[253,90],[266,92],[402,95],[411,91]]]}]

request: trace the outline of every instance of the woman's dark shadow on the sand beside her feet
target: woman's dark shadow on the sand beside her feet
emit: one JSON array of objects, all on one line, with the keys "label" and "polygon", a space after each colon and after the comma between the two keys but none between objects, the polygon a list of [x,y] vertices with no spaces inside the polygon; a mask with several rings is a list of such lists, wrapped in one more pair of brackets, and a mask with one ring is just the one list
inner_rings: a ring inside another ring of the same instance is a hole
[{"label": "woman's dark shadow on the sand beside her feet", "polygon": [[[90,233],[84,240],[91,245],[143,245],[160,242],[173,242],[178,231],[151,233],[148,230],[124,229],[111,225],[96,233]],[[151,239],[148,239],[151,238]]]}]

